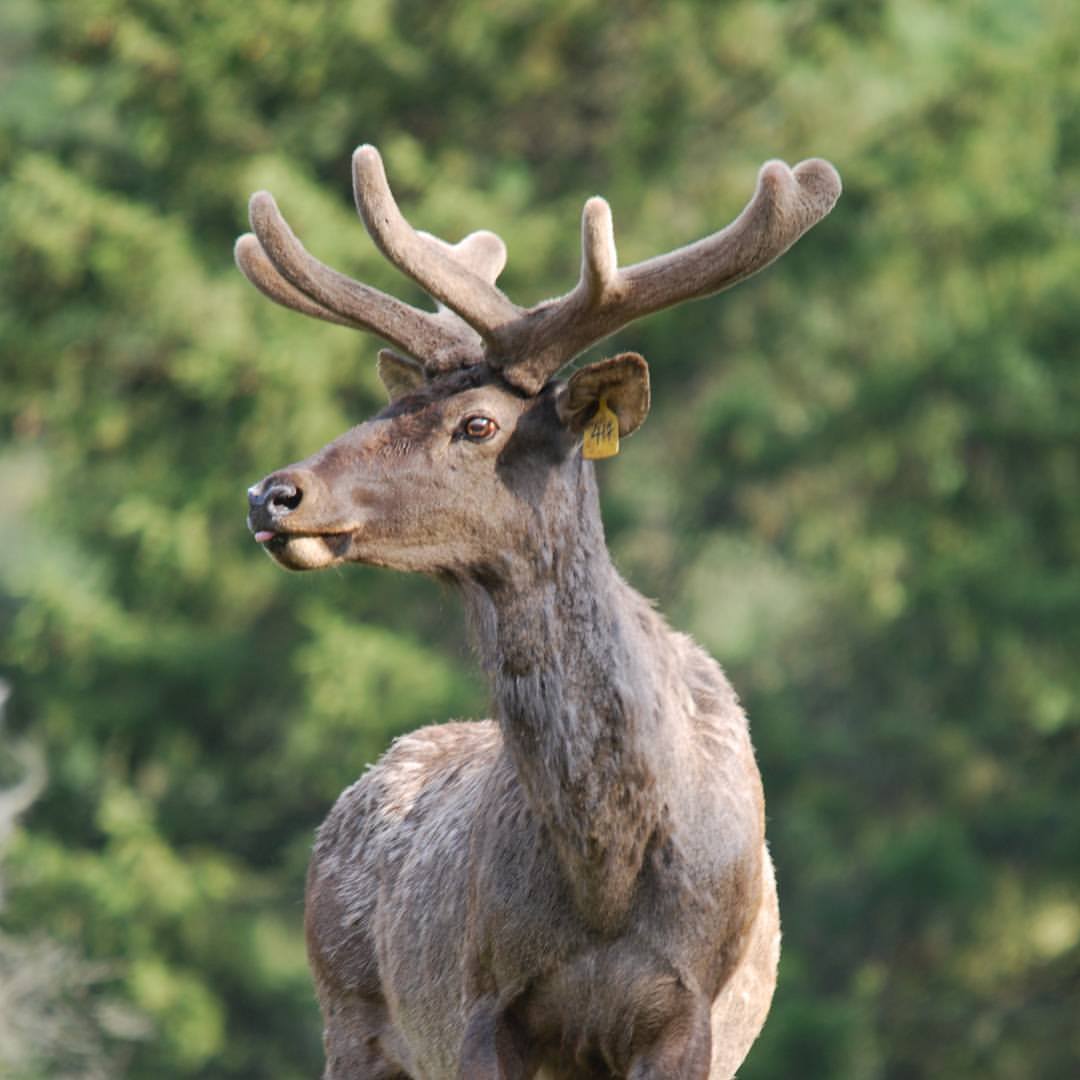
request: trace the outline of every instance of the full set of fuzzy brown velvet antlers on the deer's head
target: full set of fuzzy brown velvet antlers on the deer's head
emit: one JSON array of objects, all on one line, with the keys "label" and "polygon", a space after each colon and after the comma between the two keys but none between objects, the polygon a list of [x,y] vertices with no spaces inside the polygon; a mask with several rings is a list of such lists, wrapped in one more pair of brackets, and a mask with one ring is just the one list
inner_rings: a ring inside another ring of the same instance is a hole
[{"label": "full set of fuzzy brown velvet antlers on the deer's head", "polygon": [[581,276],[565,296],[519,308],[496,285],[505,246],[494,232],[456,245],[415,230],[390,191],[372,146],[353,154],[353,193],[379,251],[434,297],[421,311],[346,278],[309,255],[265,191],[252,197],[253,233],[237,262],[276,302],[328,322],[372,330],[421,362],[429,375],[487,362],[537,393],[568,361],[620,327],[748,278],[820,221],[840,194],[826,161],[761,166],[743,212],[718,232],[665,255],[619,268],[608,204],[595,197],[581,219]]}]

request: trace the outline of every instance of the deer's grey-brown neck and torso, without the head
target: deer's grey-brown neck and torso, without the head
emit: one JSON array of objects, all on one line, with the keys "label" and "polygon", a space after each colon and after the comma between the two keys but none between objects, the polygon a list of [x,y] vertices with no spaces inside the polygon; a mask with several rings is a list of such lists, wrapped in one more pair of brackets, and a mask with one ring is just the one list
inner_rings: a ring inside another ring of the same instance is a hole
[{"label": "deer's grey-brown neck and torso, without the head", "polygon": [[[522,1076],[627,1075],[633,1032],[707,1017],[756,920],[775,936],[742,712],[717,665],[619,579],[593,467],[571,469],[581,504],[563,505],[558,548],[522,553],[505,580],[461,582],[498,720],[400,740],[316,846],[321,996],[373,976],[381,1054],[407,1076],[455,1076],[463,1032],[476,1054],[500,1028],[521,1044]],[[551,542],[546,509],[518,507]],[[330,1076],[368,1075],[349,1057],[352,1025],[333,1028]]]}]

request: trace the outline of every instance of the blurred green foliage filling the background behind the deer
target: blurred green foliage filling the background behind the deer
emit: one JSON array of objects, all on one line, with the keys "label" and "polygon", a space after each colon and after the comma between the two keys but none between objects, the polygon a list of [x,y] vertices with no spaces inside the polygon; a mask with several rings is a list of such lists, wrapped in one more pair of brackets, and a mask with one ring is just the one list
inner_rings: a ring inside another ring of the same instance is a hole
[{"label": "blurred green foliage filling the background behind the deer", "polygon": [[[395,733],[484,713],[451,595],[291,577],[244,528],[381,395],[375,342],[231,243],[266,187],[418,299],[349,203],[368,140],[420,227],[505,238],[519,302],[576,279],[593,191],[633,261],[769,157],[836,162],[774,269],[610,346],[656,400],[603,467],[612,550],[766,779],[786,946],[741,1076],[1075,1075],[1078,118],[1068,0],[5,0],[0,675],[50,784],[0,964],[94,966],[93,1075],[316,1075],[311,831]],[[92,1075],[62,1042],[17,1080]]]}]

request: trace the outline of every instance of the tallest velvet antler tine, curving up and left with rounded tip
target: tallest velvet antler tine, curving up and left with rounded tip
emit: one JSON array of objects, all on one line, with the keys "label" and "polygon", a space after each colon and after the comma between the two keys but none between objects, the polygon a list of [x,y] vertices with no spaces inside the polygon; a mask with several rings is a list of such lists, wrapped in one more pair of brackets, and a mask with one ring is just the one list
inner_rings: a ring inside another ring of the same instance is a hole
[{"label": "tallest velvet antler tine, curving up and left with rounded tip", "polygon": [[374,146],[362,146],[352,156],[352,176],[360,216],[379,251],[399,270],[457,312],[484,338],[522,315],[522,309],[503,296],[494,279],[487,281],[468,266],[462,269],[461,261],[405,220]]}]

